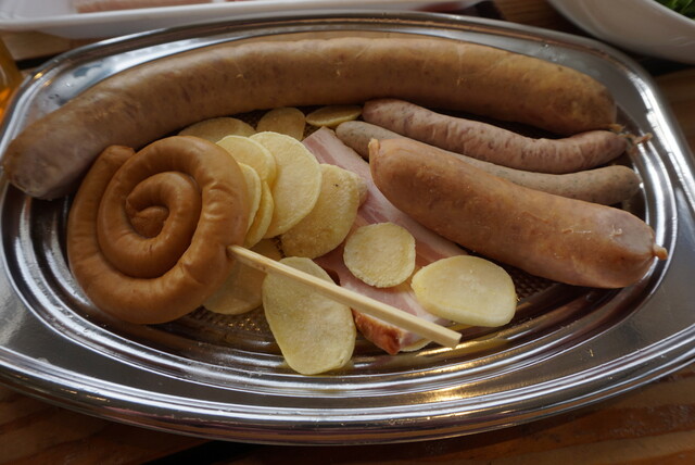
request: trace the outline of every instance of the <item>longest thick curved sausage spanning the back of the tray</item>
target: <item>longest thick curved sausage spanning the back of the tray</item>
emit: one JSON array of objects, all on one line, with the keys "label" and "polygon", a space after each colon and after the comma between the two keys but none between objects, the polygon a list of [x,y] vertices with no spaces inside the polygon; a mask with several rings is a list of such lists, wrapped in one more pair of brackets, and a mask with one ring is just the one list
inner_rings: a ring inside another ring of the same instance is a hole
[{"label": "longest thick curved sausage spanning the back of the tray", "polygon": [[27,126],[9,144],[4,171],[29,196],[53,199],[74,190],[93,159],[112,144],[140,148],[208,117],[380,97],[560,134],[616,120],[614,100],[592,77],[486,46],[356,37],[228,42],[155,60],[96,84]]}]

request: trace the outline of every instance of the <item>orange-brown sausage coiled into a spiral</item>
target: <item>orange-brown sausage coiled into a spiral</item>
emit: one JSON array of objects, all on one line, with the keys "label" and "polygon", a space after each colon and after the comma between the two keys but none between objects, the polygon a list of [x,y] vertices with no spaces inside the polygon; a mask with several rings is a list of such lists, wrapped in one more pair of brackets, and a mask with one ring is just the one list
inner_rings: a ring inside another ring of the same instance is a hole
[{"label": "orange-brown sausage coiled into a spiral", "polygon": [[[165,172],[179,173],[173,175],[178,180],[172,181],[169,173],[162,178]],[[137,154],[109,147],[70,210],[73,276],[98,309],[119,319],[176,319],[226,279],[232,265],[226,249],[243,242],[248,202],[239,166],[206,140],[170,137]],[[168,213],[160,227],[129,223],[128,211],[142,212],[140,219],[148,223],[148,216],[162,217],[161,208]]]}]

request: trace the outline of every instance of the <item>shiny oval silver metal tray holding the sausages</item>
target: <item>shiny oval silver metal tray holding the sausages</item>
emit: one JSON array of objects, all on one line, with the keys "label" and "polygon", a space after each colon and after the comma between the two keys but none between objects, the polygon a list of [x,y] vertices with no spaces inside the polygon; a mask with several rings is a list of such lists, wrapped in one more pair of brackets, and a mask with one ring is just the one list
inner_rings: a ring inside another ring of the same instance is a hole
[{"label": "shiny oval silver metal tray holding the sausages", "polygon": [[[470,329],[457,349],[395,356],[358,341],[350,367],[300,376],[263,316],[199,310],[159,326],[96,312],[65,264],[68,200],[29,199],[2,180],[0,380],[68,409],[212,439],[384,443],[502,428],[619,394],[695,356],[693,158],[645,72],[596,41],[489,20],[353,13],[229,22],[112,39],[48,62],[13,102],[0,149],[30,120],[128,66],[224,41],[415,34],[488,43],[580,68],[614,92],[621,123],[654,137],[621,160],[644,179],[626,209],[670,259],[621,290],[515,273],[517,317]],[[60,154],[56,154],[59,156]],[[520,247],[522,247],[520,244]]]}]

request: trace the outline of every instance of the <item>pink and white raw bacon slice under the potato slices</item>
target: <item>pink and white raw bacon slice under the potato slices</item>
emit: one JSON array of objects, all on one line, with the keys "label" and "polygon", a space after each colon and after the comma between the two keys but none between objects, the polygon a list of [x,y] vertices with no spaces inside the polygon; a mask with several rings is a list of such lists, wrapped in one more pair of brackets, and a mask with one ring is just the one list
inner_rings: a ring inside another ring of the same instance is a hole
[{"label": "pink and white raw bacon slice under the potato slices", "polygon": [[[437,260],[460,255],[464,251],[455,243],[421,226],[393,204],[379,191],[371,180],[369,164],[354,150],[345,146],[336,134],[321,128],[304,139],[304,144],[319,163],[330,163],[359,175],[366,183],[368,194],[359,208],[353,228],[365,224],[391,222],[406,228],[415,237],[416,265],[425,266]],[[343,263],[342,246],[316,259],[321,267],[338,277],[340,285],[383,303],[388,303],[413,315],[448,324],[450,322],[428,313],[415,299],[408,284],[395,288],[375,288],[353,276]],[[355,324],[362,335],[375,345],[390,354],[406,350],[421,338],[369,315],[354,312]]]}]

